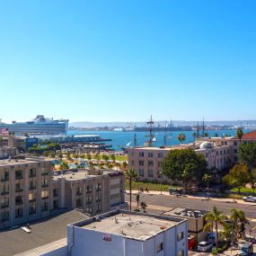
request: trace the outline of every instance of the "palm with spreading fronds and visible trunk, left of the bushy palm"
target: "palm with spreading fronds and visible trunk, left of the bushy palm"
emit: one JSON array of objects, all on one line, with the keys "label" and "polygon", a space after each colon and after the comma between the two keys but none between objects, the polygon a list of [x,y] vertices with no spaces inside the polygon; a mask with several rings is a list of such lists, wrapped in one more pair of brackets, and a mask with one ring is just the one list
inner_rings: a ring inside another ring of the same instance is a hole
[{"label": "palm with spreading fronds and visible trunk, left of the bushy palm", "polygon": [[218,245],[218,226],[225,225],[226,219],[227,216],[223,215],[222,211],[217,210],[216,206],[206,215],[207,224],[204,226],[204,231],[208,231],[209,227],[214,227],[216,231],[216,247]]}]

